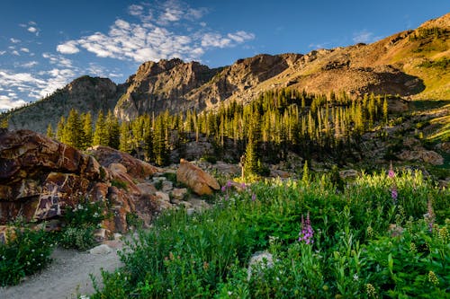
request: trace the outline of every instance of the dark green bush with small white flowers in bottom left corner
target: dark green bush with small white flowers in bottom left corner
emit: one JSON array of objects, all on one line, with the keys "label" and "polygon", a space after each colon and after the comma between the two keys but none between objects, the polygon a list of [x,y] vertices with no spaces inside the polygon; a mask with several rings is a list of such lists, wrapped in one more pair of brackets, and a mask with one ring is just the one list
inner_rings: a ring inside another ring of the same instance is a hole
[{"label": "dark green bush with small white flowers in bottom left corner", "polygon": [[14,231],[10,242],[0,244],[0,286],[17,285],[51,261],[54,244],[48,233],[28,227]]}]

